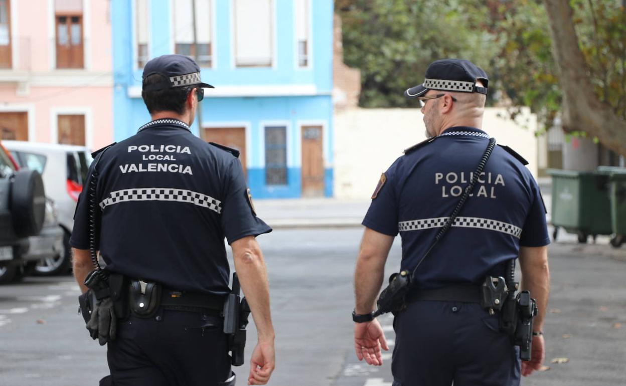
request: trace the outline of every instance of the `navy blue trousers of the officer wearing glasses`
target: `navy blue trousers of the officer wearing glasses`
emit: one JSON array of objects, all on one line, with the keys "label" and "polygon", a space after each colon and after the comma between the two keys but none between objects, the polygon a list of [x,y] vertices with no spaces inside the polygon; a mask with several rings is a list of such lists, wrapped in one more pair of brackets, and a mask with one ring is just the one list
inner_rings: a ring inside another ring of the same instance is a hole
[{"label": "navy blue trousers of the officer wearing glasses", "polygon": [[409,304],[394,319],[393,386],[518,386],[518,350],[498,323],[477,303]]}]

